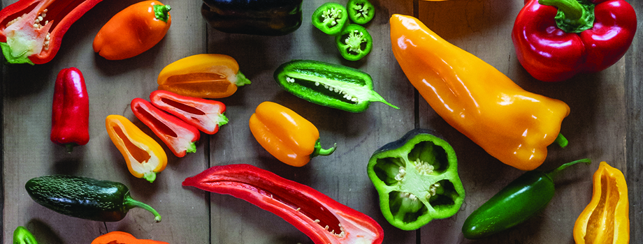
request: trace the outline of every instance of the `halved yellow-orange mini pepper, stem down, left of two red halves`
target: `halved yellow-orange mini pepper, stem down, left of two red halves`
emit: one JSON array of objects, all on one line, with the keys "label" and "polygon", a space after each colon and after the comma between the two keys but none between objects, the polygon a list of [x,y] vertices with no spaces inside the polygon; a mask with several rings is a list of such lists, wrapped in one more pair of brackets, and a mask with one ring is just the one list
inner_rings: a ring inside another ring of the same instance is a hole
[{"label": "halved yellow-orange mini pepper, stem down, left of two red halves", "polygon": [[136,178],[154,182],[157,173],[163,171],[168,163],[168,156],[161,145],[124,116],[107,116],[105,127],[125,158],[129,172]]}]

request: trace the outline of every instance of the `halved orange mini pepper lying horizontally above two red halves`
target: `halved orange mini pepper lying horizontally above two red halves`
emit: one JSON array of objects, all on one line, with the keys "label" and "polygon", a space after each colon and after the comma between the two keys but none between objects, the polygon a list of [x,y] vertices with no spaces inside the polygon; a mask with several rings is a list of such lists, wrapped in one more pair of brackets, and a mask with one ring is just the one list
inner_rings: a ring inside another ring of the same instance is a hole
[{"label": "halved orange mini pepper lying horizontally above two red halves", "polygon": [[226,98],[237,86],[250,84],[239,64],[224,54],[196,54],[179,59],[161,70],[159,90],[195,98]]}]

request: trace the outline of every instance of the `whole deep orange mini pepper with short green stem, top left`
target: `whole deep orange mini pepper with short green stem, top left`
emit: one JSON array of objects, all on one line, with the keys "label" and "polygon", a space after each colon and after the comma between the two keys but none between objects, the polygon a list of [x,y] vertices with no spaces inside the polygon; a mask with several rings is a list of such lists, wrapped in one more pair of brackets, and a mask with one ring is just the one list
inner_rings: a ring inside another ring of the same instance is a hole
[{"label": "whole deep orange mini pepper with short green stem, top left", "polygon": [[170,29],[171,7],[141,1],[116,13],[94,38],[94,52],[109,60],[129,59],[157,45]]}]

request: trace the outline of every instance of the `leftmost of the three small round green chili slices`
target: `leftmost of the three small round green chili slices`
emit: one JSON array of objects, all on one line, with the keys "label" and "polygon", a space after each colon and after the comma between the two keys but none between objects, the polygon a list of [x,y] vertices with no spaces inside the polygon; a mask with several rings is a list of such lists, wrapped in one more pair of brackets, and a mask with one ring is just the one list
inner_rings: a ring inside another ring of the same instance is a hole
[{"label": "leftmost of the three small round green chili slices", "polygon": [[340,3],[324,3],[312,13],[312,25],[324,33],[336,36],[348,23],[348,11]]}]

